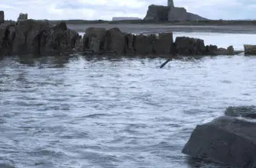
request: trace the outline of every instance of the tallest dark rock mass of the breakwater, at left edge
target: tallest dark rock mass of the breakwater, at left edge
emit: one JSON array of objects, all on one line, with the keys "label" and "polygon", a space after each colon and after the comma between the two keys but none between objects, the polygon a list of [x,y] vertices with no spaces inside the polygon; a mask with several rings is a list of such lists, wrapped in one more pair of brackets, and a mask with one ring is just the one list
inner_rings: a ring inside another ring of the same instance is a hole
[{"label": "tallest dark rock mass of the breakwater, at left edge", "polygon": [[74,52],[79,34],[64,22],[53,26],[32,19],[0,24],[0,55],[60,55]]}]

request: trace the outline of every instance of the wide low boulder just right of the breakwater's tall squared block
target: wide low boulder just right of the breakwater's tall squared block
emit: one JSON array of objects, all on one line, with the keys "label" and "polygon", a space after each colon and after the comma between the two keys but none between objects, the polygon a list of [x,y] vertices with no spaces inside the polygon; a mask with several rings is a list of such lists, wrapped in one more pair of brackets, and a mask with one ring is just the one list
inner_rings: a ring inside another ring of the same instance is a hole
[{"label": "wide low boulder just right of the breakwater's tall squared block", "polygon": [[203,55],[206,51],[204,40],[190,37],[176,37],[177,53],[183,56]]}]

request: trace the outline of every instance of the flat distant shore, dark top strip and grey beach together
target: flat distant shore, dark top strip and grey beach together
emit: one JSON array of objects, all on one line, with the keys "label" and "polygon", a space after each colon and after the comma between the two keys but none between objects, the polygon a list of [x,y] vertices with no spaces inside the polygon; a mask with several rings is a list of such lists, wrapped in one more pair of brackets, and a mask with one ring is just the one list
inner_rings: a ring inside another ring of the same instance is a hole
[{"label": "flat distant shore, dark top strip and grey beach together", "polygon": [[55,20],[50,24],[65,21],[67,26],[74,31],[85,32],[88,27],[105,27],[110,29],[118,27],[122,32],[133,34],[155,34],[160,32],[206,32],[225,34],[256,34],[256,20],[254,21],[86,21],[86,20]]}]

